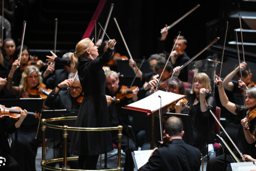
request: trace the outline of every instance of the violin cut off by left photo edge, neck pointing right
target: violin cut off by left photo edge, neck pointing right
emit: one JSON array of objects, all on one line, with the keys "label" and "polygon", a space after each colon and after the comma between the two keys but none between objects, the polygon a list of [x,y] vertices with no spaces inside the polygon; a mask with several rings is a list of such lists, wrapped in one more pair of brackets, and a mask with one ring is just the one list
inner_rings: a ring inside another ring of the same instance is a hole
[{"label": "violin cut off by left photo edge, neck pointing right", "polygon": [[[20,110],[22,110],[22,108],[17,106],[12,108],[6,108],[4,105],[0,104],[0,119],[10,118],[13,120],[18,120],[20,116]],[[39,113],[28,112],[28,115],[33,115],[37,119],[40,118]]]}]

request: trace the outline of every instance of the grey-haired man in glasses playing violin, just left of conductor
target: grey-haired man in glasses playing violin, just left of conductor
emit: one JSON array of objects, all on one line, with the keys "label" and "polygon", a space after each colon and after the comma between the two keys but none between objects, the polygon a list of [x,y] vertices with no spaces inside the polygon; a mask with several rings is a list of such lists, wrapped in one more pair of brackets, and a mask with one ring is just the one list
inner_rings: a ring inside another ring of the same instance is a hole
[{"label": "grey-haired man in glasses playing violin, just left of conductor", "polygon": [[[82,88],[78,78],[78,75],[74,77],[75,73],[69,74],[69,79],[66,79],[58,84],[58,86],[52,90],[45,100],[45,105],[50,109],[66,109],[66,110],[78,110],[80,103],[82,102]],[[74,77],[74,80],[73,80]],[[69,90],[61,90],[62,88],[69,88]],[[53,158],[61,158],[63,140],[59,138],[47,139],[46,146],[48,150],[46,152],[46,160]],[[71,140],[68,139],[68,147]],[[69,151],[69,149],[68,149]],[[55,156],[53,156],[55,154]],[[74,157],[72,154],[68,154],[68,157]],[[49,166],[55,166],[56,163],[51,163]],[[70,161],[71,168],[76,168],[77,161]]]}]

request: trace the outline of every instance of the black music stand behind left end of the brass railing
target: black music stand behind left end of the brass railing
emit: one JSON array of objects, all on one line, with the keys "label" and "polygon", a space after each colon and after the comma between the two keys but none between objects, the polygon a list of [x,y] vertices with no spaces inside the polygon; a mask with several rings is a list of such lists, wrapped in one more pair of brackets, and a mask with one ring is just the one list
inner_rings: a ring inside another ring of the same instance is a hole
[{"label": "black music stand behind left end of the brass railing", "polygon": [[[77,116],[78,110],[46,110],[42,111],[40,121],[37,128],[36,139],[41,139],[42,132],[41,132],[41,119],[49,119],[49,118],[58,118],[58,117],[68,117],[68,116]],[[68,126],[75,126],[76,120],[60,120],[54,121],[55,125],[68,125]],[[52,124],[52,123],[51,123]],[[56,138],[55,135],[62,135],[62,130],[58,129],[51,129],[47,127],[46,129],[46,138]],[[68,137],[72,138],[73,131],[69,132]]]}]

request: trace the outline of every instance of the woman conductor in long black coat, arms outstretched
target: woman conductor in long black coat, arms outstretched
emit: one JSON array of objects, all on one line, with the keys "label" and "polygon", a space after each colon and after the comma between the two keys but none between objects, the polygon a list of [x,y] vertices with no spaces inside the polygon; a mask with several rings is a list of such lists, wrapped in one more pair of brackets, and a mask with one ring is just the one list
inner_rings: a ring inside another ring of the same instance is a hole
[{"label": "woman conductor in long black coat, arms outstretched", "polygon": [[[84,38],[76,45],[71,62],[58,58],[52,51],[52,56],[47,56],[49,61],[62,62],[66,66],[71,66],[71,70],[78,71],[84,95],[75,127],[110,126],[108,104],[104,93],[106,77],[102,67],[111,59],[115,45],[115,39],[109,40],[108,49],[97,58],[98,48],[90,38]],[[78,169],[96,169],[99,154],[112,150],[113,144],[109,131],[73,133],[70,153],[79,156]]]}]

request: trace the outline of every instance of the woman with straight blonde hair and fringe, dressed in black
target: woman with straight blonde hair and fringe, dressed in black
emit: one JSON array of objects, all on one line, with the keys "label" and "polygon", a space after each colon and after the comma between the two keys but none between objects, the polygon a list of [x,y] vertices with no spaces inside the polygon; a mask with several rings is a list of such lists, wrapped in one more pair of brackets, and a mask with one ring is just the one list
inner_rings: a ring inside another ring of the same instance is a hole
[{"label": "woman with straight blonde hair and fringe, dressed in black", "polygon": [[[178,69],[178,68],[176,68]],[[179,71],[176,74],[180,74]],[[191,105],[190,110],[185,109],[181,100],[176,104],[176,113],[189,114],[191,116],[193,135],[195,139],[194,146],[199,148],[205,156],[207,152],[207,144],[214,142],[214,118],[211,117],[210,111],[215,113],[216,100],[215,97],[206,93],[207,89],[211,89],[209,77],[205,73],[198,73],[193,80],[192,89],[187,95],[188,103]]]}]

